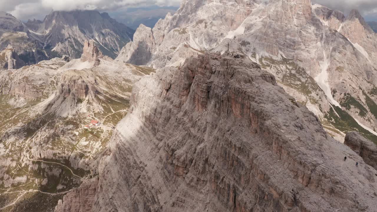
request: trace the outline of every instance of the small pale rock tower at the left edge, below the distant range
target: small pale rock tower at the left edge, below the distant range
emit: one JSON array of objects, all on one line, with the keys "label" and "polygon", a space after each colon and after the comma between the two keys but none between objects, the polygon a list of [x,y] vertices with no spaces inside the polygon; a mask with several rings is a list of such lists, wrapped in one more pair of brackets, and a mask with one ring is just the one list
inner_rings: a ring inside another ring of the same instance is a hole
[{"label": "small pale rock tower at the left edge, below the distant range", "polygon": [[14,51],[13,46],[8,45],[0,52],[0,69],[19,69],[25,65],[25,62]]}]

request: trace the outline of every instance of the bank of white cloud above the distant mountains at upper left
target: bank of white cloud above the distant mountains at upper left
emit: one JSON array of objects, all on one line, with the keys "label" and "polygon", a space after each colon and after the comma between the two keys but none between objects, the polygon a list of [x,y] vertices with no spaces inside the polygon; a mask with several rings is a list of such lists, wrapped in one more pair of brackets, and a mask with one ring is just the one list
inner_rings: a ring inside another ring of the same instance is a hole
[{"label": "bank of white cloud above the distant mountains at upper left", "polygon": [[138,6],[179,6],[181,0],[0,0],[0,10],[21,20],[43,18],[51,10],[97,9],[112,11]]}]

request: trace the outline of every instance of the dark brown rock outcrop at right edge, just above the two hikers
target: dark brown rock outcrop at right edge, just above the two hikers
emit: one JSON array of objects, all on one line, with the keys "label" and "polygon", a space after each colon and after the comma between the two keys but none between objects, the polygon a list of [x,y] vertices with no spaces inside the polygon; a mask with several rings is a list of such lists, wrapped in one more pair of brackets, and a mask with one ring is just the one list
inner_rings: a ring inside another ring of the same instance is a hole
[{"label": "dark brown rock outcrop at right edge, just above the two hikers", "polygon": [[377,170],[377,146],[375,143],[358,132],[348,132],[344,144],[360,155],[366,164]]}]

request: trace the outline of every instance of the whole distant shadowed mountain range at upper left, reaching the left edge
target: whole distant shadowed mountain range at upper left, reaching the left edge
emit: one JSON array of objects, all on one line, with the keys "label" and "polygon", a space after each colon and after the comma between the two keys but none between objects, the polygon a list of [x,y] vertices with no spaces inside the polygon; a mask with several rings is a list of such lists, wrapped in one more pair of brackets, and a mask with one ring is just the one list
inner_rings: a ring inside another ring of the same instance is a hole
[{"label": "whole distant shadowed mountain range at upper left, reaching the left edge", "polygon": [[14,46],[27,65],[62,55],[80,58],[84,41],[91,39],[104,55],[115,58],[132,40],[133,33],[133,29],[106,12],[53,11],[43,21],[34,19],[26,23],[0,13],[0,50]]}]

